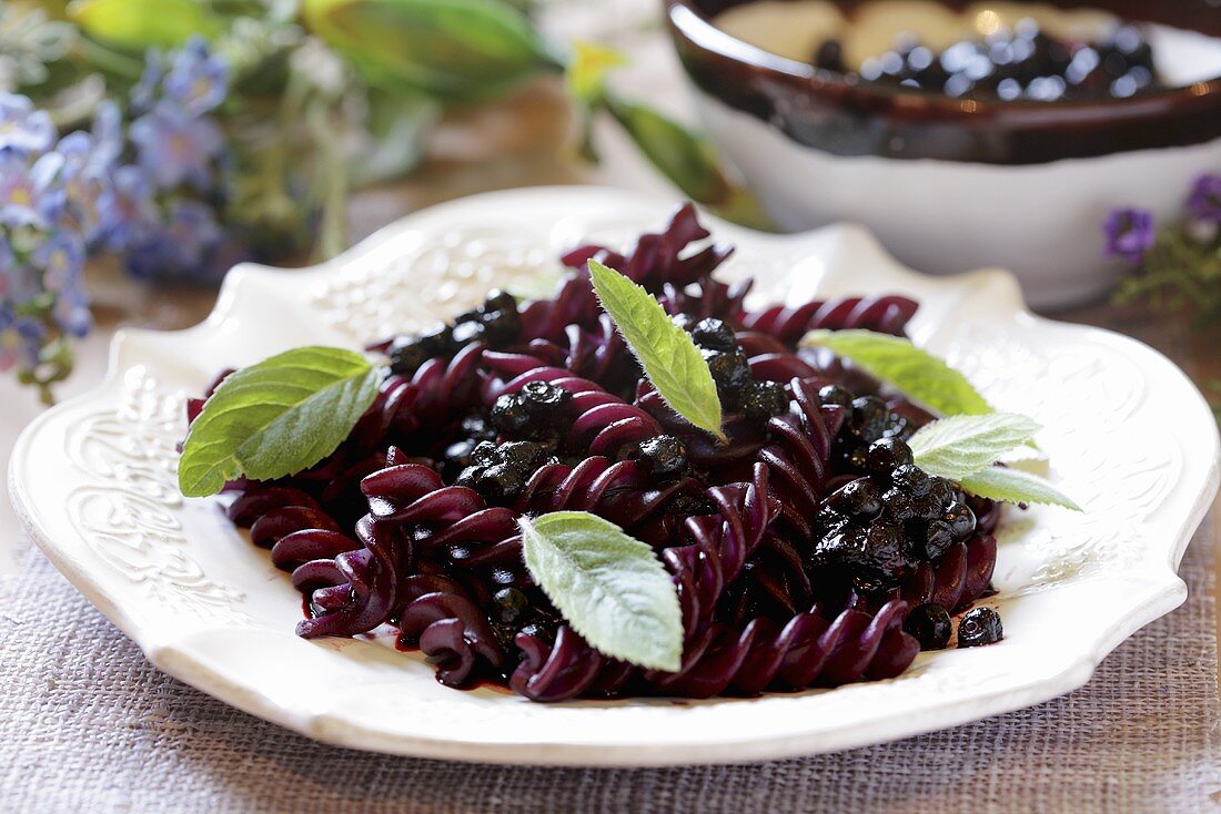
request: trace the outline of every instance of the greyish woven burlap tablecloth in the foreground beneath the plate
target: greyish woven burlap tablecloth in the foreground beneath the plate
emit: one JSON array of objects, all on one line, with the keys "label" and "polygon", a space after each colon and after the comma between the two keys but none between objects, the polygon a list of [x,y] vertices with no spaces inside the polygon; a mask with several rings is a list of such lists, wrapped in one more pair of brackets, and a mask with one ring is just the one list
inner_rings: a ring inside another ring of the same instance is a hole
[{"label": "greyish woven burlap tablecloth in the foreground beneath the plate", "polygon": [[841,754],[641,770],[468,765],[314,743],[159,672],[31,552],[0,587],[0,809],[1219,812],[1210,530],[1206,521],[1181,570],[1187,604],[1063,698]]}]

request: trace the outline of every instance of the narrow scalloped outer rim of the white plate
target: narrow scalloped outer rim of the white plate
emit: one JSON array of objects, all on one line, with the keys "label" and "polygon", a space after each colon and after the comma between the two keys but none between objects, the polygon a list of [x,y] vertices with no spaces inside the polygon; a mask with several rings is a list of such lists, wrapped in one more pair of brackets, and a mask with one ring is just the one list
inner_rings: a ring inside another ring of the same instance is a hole
[{"label": "narrow scalloped outer rim of the white plate", "polygon": [[[294,730],[314,740],[335,746],[366,749],[371,752],[404,754],[415,757],[454,759],[465,762],[496,762],[521,765],[602,765],[602,766],[646,766],[646,765],[681,765],[697,763],[742,763],[766,759],[779,759],[814,754],[823,752],[835,752],[856,748],[866,744],[879,743],[902,737],[910,737],[922,732],[945,729],[974,721],[982,718],[1026,708],[1057,696],[1071,692],[1087,683],[1096,665],[1115,647],[1122,643],[1137,630],[1158,619],[1159,616],[1177,608],[1187,597],[1186,583],[1175,572],[1186,553],[1187,544],[1194,530],[1201,522],[1212,502],[1212,495],[1217,491],[1219,475],[1217,454],[1206,476],[1204,489],[1197,495],[1192,510],[1173,535],[1164,535],[1168,544],[1165,546],[1165,570],[1149,575],[1139,585],[1148,588],[1139,603],[1134,604],[1128,613],[1115,619],[1104,631],[1100,631],[1095,642],[1088,649],[1078,654],[1077,659],[1061,669],[1054,676],[1044,679],[1037,683],[1022,686],[1021,692],[1011,688],[999,690],[989,694],[976,696],[971,704],[963,704],[955,698],[946,698],[940,707],[924,708],[918,715],[907,715],[899,719],[878,719],[869,725],[857,726],[851,731],[839,731],[832,735],[818,732],[814,742],[811,742],[808,733],[794,733],[786,737],[773,737],[770,740],[751,740],[750,735],[740,738],[726,738],[722,741],[708,741],[700,744],[690,742],[667,742],[653,738],[648,743],[631,742],[614,746],[606,744],[573,744],[573,743],[546,743],[535,741],[523,742],[471,742],[447,740],[443,736],[425,737],[420,735],[408,735],[402,732],[387,732],[383,730],[365,729],[359,724],[344,721],[333,714],[331,709],[314,713],[297,713],[277,703],[264,692],[253,691],[241,682],[211,670],[208,664],[195,659],[189,648],[183,649],[173,641],[158,641],[147,630],[138,625],[121,603],[116,602],[107,591],[89,574],[88,570],[78,567],[77,564],[60,550],[56,543],[40,527],[37,517],[37,503],[23,489],[18,470],[26,458],[26,450],[38,436],[42,428],[50,422],[60,411],[88,404],[115,391],[121,383],[126,371],[121,367],[120,360],[125,347],[128,343],[139,344],[142,340],[155,340],[160,336],[189,337],[194,333],[205,333],[220,326],[225,320],[234,314],[237,300],[247,278],[282,278],[286,275],[310,275],[310,278],[326,276],[332,267],[337,268],[352,258],[359,258],[391,244],[398,236],[408,233],[409,225],[421,215],[431,214],[441,216],[449,207],[468,206],[480,201],[496,203],[501,198],[520,198],[523,195],[582,195],[597,194],[607,196],[619,196],[624,200],[637,199],[652,204],[661,203],[654,196],[636,195],[620,189],[602,189],[591,187],[535,187],[527,189],[501,190],[485,193],[471,198],[458,199],[440,204],[426,210],[420,210],[382,229],[350,248],[343,255],[325,264],[304,270],[277,270],[255,264],[242,264],[234,267],[222,283],[217,297],[217,303],[211,314],[195,326],[179,331],[150,331],[150,330],[121,330],[111,343],[107,369],[101,382],[81,395],[73,397],[55,408],[44,411],[32,421],[22,432],[13,448],[9,465],[9,493],[10,499],[17,511],[18,520],[26,531],[32,536],[39,549],[51,560],[55,567],[63,574],[68,581],[101,613],[123,631],[144,653],[151,664],[168,675],[184,681],[186,683],[211,694],[225,703],[228,703],[247,713],[274,721],[287,729]],[[707,215],[701,215],[702,220],[714,225],[717,229],[725,227],[722,222]],[[741,227],[725,227],[729,229],[747,232]],[[885,253],[877,243],[875,238],[863,227],[855,223],[838,223],[813,232],[789,236],[773,236],[759,233],[761,238],[789,240],[794,238],[808,238],[811,236],[835,236],[850,234],[855,239],[864,239],[880,256],[890,261],[891,270],[901,271],[913,277],[923,277],[919,272],[910,270]],[[962,275],[945,276],[943,279],[954,281],[958,284],[969,282],[972,287],[1004,283],[1011,290],[1009,298],[1012,300],[1015,314],[1023,319],[1029,319],[1039,323],[1051,323],[1063,326],[1054,320],[1032,314],[1017,293],[1016,282],[1009,272],[1001,270],[979,270]],[[1073,326],[1073,330],[1089,333],[1094,337],[1105,338],[1106,342],[1118,340],[1121,344],[1131,344],[1139,348],[1142,353],[1150,354],[1166,369],[1172,370],[1193,391],[1194,384],[1186,375],[1162,354],[1144,343],[1129,337],[1117,334],[1103,328],[1089,326]],[[1203,395],[1197,391],[1199,405],[1205,405]],[[1221,449],[1216,438],[1212,447]],[[1159,547],[1160,548],[1160,547]],[[363,741],[363,742],[361,742]]]}]

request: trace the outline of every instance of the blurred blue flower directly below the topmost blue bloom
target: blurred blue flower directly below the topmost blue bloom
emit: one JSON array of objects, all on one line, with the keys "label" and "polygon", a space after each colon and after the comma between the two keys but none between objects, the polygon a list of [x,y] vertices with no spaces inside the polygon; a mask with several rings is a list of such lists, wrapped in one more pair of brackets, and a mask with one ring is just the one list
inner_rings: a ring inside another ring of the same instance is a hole
[{"label": "blurred blue flower directly below the topmost blue bloom", "polygon": [[215,121],[194,118],[167,103],[132,122],[131,137],[140,166],[161,189],[175,189],[183,182],[205,188],[211,164],[225,146]]}]

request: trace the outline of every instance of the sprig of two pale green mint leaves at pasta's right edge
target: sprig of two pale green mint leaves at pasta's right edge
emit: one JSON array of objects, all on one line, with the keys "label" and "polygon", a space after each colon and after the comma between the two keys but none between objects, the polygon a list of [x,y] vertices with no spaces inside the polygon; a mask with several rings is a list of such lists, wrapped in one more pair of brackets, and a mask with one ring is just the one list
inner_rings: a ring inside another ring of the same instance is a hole
[{"label": "sprig of two pale green mint leaves at pasta's right edge", "polygon": [[1081,506],[1043,478],[994,464],[1029,444],[1039,425],[1024,415],[954,416],[921,427],[908,441],[916,465],[929,475],[956,481],[982,498],[1044,503],[1081,511]]}]

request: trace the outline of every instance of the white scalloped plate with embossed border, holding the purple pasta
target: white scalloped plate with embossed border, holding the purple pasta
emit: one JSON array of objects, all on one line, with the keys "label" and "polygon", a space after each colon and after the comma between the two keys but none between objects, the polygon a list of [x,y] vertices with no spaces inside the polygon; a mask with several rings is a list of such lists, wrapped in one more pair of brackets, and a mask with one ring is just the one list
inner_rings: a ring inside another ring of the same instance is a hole
[{"label": "white scalloped plate with embossed border, holding the purple pasta", "polygon": [[221,367],[435,321],[493,281],[557,270],[558,253],[579,239],[623,244],[657,228],[670,209],[609,189],[514,190],[420,212],[317,268],[236,268],[206,322],[121,333],[106,382],[29,426],[11,463],[17,511],[166,672],[320,741],[462,760],[728,763],[899,738],[1068,692],[1183,602],[1175,571],[1217,488],[1219,460],[1216,426],[1188,380],[1131,339],[1031,316],[1007,273],[919,276],[852,226],[777,237],[706,218],[739,247],[722,277],[755,275],[762,298],[919,299],[915,339],[998,406],[1045,425],[1051,476],[1087,513],[1010,515],[1001,593],[989,600],[1005,620],[996,646],[922,654],[890,681],[755,699],[545,705],[459,692],[389,637],[294,636],[300,598],[287,576],[217,499],[178,495],[183,399]]}]

